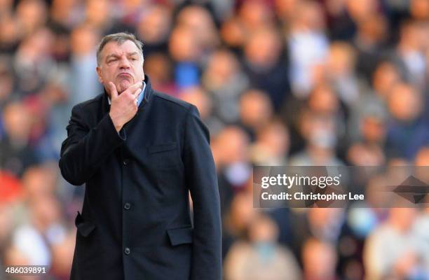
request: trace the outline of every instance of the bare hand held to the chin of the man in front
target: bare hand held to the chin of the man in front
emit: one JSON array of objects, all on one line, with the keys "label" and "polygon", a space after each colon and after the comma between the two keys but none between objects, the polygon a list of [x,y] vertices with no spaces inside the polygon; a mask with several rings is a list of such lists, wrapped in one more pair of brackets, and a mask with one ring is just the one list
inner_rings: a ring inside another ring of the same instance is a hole
[{"label": "bare hand held to the chin of the man in front", "polygon": [[109,116],[115,125],[117,132],[125,123],[128,123],[137,113],[137,98],[142,92],[142,82],[131,85],[121,94],[118,94],[114,83],[109,82],[111,105]]}]

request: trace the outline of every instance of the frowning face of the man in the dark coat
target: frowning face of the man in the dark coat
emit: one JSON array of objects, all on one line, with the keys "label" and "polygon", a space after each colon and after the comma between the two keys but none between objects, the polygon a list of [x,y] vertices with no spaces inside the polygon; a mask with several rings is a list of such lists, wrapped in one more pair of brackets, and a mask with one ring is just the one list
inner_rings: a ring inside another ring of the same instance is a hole
[{"label": "frowning face of the man in the dark coat", "polygon": [[137,45],[132,41],[125,41],[122,45],[110,41],[104,45],[97,74],[105,88],[109,88],[109,82],[114,83],[118,94],[144,80],[143,59]]}]

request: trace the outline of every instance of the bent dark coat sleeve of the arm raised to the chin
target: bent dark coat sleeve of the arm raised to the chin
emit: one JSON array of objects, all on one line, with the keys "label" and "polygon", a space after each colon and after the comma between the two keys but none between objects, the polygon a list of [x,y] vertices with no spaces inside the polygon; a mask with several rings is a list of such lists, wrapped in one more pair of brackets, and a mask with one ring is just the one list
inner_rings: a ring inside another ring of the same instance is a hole
[{"label": "bent dark coat sleeve of the arm raised to the chin", "polygon": [[124,130],[116,132],[108,113],[95,127],[86,125],[84,113],[81,105],[73,107],[67,139],[61,146],[61,174],[75,186],[88,181],[107,156],[126,139]]}]

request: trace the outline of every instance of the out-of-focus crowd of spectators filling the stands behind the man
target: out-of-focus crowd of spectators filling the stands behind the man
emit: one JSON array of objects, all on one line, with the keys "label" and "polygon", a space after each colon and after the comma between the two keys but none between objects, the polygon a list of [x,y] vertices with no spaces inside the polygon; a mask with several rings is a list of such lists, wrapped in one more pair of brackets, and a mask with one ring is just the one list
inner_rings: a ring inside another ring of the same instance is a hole
[{"label": "out-of-focus crowd of spectators filling the stands behind the man", "polygon": [[252,197],[255,165],[429,165],[429,0],[0,0],[0,279],[68,279],[84,187],[61,178],[60,145],[117,31],[210,128],[224,279],[429,279],[428,208]]}]

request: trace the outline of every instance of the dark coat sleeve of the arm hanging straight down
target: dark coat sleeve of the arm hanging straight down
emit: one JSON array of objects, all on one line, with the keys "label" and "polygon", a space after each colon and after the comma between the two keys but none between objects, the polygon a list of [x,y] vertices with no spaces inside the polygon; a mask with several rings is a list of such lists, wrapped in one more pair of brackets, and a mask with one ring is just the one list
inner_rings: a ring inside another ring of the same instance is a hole
[{"label": "dark coat sleeve of the arm hanging straight down", "polygon": [[219,280],[222,277],[219,188],[210,135],[195,106],[191,106],[186,117],[184,167],[193,201],[191,279]]}]

